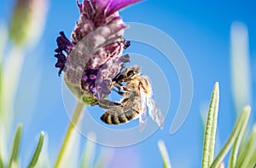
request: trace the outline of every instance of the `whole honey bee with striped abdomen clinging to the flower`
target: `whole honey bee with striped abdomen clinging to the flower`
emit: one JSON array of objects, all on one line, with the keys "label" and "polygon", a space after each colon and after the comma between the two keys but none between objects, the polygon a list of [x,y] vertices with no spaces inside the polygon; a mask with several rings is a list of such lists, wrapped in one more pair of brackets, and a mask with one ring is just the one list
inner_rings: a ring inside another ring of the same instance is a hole
[{"label": "whole honey bee with striped abdomen clinging to the flower", "polygon": [[[125,83],[125,85],[123,85]],[[123,98],[119,102],[102,99],[99,106],[108,109],[101,117],[108,125],[127,123],[139,118],[144,125],[148,114],[154,122],[163,128],[164,117],[154,101],[153,88],[147,76],[140,74],[137,66],[126,68],[113,78],[112,86]]]}]

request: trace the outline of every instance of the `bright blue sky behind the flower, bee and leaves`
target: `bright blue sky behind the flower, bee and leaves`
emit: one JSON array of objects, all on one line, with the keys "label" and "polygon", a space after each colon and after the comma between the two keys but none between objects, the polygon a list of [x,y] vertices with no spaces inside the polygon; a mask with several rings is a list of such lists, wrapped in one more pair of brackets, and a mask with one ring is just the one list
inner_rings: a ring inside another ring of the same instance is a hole
[{"label": "bright blue sky behind the flower, bee and leaves", "polygon": [[[0,4],[1,23],[8,24],[13,1],[3,0]],[[131,147],[114,149],[111,167],[119,167],[121,163],[124,164],[122,167],[160,167],[162,161],[157,147],[160,139],[166,143],[173,167],[200,167],[203,141],[200,108],[210,100],[216,81],[220,84],[219,146],[224,145],[236,120],[230,84],[230,26],[233,21],[241,21],[248,29],[253,78],[252,107],[255,105],[255,5],[253,1],[148,0],[120,12],[123,20],[155,26],[177,42],[189,61],[194,81],[194,96],[184,125],[171,136],[168,132],[174,117],[172,109],[175,110],[178,104],[179,86],[176,73],[172,71],[167,74],[170,76],[168,82],[172,98],[165,129],[157,130],[147,140]],[[15,106],[16,122],[24,123],[25,130],[21,154],[26,155],[32,150],[34,136],[40,130],[45,130],[49,136],[51,160],[60,148],[69,120],[62,102],[61,78],[57,76],[58,70],[54,67],[55,38],[61,30],[69,37],[78,19],[79,10],[75,1],[50,1],[44,35],[37,48],[26,55]],[[139,43],[132,44],[127,52],[142,53],[148,57],[152,55],[150,50],[145,50]],[[157,55],[157,52],[154,54]],[[161,101],[165,100],[163,97]],[[23,111],[26,113],[20,113]],[[255,117],[253,120],[255,122]],[[82,144],[84,142],[85,139],[82,138]],[[100,145],[97,146],[97,153],[101,148]],[[27,158],[22,157],[22,162],[26,162]]]}]

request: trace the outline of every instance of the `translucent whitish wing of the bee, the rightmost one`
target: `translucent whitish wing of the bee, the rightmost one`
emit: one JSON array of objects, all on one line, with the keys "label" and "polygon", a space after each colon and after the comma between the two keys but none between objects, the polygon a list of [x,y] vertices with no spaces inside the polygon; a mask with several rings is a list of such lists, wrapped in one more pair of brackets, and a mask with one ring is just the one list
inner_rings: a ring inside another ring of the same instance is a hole
[{"label": "translucent whitish wing of the bee, the rightmost one", "polygon": [[160,129],[164,128],[164,116],[160,111],[160,108],[157,107],[156,102],[154,101],[152,96],[147,97],[147,105],[148,105],[148,114],[154,122],[160,126]]}]

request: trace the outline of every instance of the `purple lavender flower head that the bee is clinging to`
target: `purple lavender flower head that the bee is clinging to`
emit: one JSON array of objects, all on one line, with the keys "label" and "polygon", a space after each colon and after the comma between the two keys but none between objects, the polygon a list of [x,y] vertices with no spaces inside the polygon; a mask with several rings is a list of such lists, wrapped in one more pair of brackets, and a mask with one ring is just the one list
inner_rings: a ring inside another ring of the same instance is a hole
[{"label": "purple lavender flower head that the bee is clinging to", "polygon": [[57,38],[55,67],[73,93],[85,104],[110,94],[113,77],[122,71],[129,55],[123,49],[130,46],[123,38],[125,23],[119,9],[140,0],[84,0],[78,3],[80,17],[69,41],[64,32]]}]

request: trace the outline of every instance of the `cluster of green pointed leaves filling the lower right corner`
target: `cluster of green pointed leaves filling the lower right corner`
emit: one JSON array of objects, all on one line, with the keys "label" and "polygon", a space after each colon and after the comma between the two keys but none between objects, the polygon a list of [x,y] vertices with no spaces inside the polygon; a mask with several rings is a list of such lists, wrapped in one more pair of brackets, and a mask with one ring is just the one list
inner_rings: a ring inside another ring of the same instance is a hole
[{"label": "cluster of green pointed leaves filling the lower right corner", "polygon": [[229,153],[230,148],[232,148],[230,152],[229,168],[252,167],[256,160],[256,156],[253,154],[256,150],[256,126],[253,127],[249,139],[247,140],[245,137],[246,142],[242,143],[242,137],[245,136],[248,119],[251,113],[251,107],[249,106],[244,107],[228,141],[224,144],[224,148],[222,148],[216,158],[213,159],[218,120],[218,99],[219,91],[218,83],[216,83],[212,91],[212,99],[207,116],[201,165],[205,168],[218,168],[223,163],[224,157]]}]

